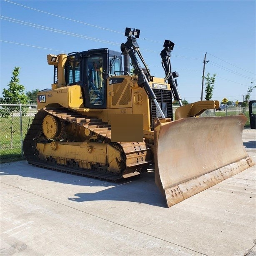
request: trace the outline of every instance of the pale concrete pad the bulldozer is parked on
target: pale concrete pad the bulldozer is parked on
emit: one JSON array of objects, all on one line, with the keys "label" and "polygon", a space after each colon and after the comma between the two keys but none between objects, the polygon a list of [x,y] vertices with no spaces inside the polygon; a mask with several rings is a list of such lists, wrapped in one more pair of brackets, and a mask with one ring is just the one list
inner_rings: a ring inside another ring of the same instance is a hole
[{"label": "pale concrete pad the bulldozer is parked on", "polygon": [[[255,130],[243,134],[255,161]],[[109,183],[26,161],[0,168],[4,255],[256,253],[256,166],[171,208],[153,172]]]}]

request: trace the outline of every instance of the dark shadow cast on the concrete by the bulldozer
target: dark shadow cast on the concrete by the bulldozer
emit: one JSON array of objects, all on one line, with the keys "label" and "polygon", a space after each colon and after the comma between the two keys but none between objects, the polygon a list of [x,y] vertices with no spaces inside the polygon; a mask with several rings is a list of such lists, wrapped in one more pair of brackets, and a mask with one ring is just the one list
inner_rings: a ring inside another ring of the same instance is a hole
[{"label": "dark shadow cast on the concrete by the bulldozer", "polygon": [[103,187],[102,191],[96,193],[76,193],[74,197],[68,198],[70,201],[130,201],[166,207],[165,199],[155,184],[152,167],[147,173],[117,183],[39,168],[26,161],[4,163],[0,167],[1,176],[16,175],[74,186]]}]

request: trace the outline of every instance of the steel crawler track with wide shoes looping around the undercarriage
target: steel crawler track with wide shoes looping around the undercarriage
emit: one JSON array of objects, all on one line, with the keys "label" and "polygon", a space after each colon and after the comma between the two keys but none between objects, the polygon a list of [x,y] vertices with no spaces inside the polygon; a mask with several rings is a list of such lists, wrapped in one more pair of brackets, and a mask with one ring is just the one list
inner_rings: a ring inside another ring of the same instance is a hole
[{"label": "steel crawler track with wide shoes looping around the undercarriage", "polygon": [[[40,168],[47,168],[54,171],[72,173],[81,176],[100,178],[106,181],[118,181],[124,177],[133,176],[138,173],[146,172],[148,165],[151,163],[151,152],[146,147],[145,142],[129,142],[117,143],[117,146],[123,149],[126,158],[126,168],[122,173],[103,173],[97,170],[89,170],[77,168],[73,166],[57,165],[51,162],[42,161],[39,159],[36,143],[37,139],[42,136],[42,123],[46,115],[53,115],[65,122],[75,123],[90,130],[93,136],[100,137],[101,141],[108,143],[111,141],[111,127],[107,122],[103,122],[99,118],[92,118],[81,113],[74,112],[67,108],[43,108],[35,115],[30,129],[25,136],[23,142],[23,151],[28,163]],[[85,152],[86,153],[86,152]]]}]

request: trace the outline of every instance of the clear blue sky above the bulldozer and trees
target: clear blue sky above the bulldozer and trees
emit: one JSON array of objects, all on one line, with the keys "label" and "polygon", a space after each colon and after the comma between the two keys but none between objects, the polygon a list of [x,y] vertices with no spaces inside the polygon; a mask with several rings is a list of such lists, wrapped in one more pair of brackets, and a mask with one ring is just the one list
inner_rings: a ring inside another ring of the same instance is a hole
[{"label": "clear blue sky above the bulldozer and trees", "polygon": [[156,77],[164,77],[159,55],[164,40],[175,43],[172,70],[179,73],[178,89],[188,102],[200,100],[206,52],[206,74],[217,74],[214,100],[242,101],[255,84],[256,1],[0,0],[0,15],[0,92],[15,66],[26,91],[50,88],[53,66],[47,54],[120,51],[126,27],[141,30],[138,44]]}]

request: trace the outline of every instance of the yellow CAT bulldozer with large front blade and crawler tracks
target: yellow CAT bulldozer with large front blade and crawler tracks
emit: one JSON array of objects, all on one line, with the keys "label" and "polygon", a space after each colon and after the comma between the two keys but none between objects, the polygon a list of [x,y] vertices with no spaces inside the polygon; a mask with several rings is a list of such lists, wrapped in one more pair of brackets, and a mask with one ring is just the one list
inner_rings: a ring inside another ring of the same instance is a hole
[{"label": "yellow CAT bulldozer with large front blade and crawler tracks", "polygon": [[[247,118],[200,117],[220,107],[216,100],[183,105],[171,70],[174,43],[164,42],[165,77],[157,78],[141,55],[139,34],[126,28],[120,52],[47,55],[53,84],[38,92],[23,151],[35,166],[106,181],[154,164],[155,183],[170,207],[254,165],[242,142]],[[173,99],[180,105],[175,116]]]}]

